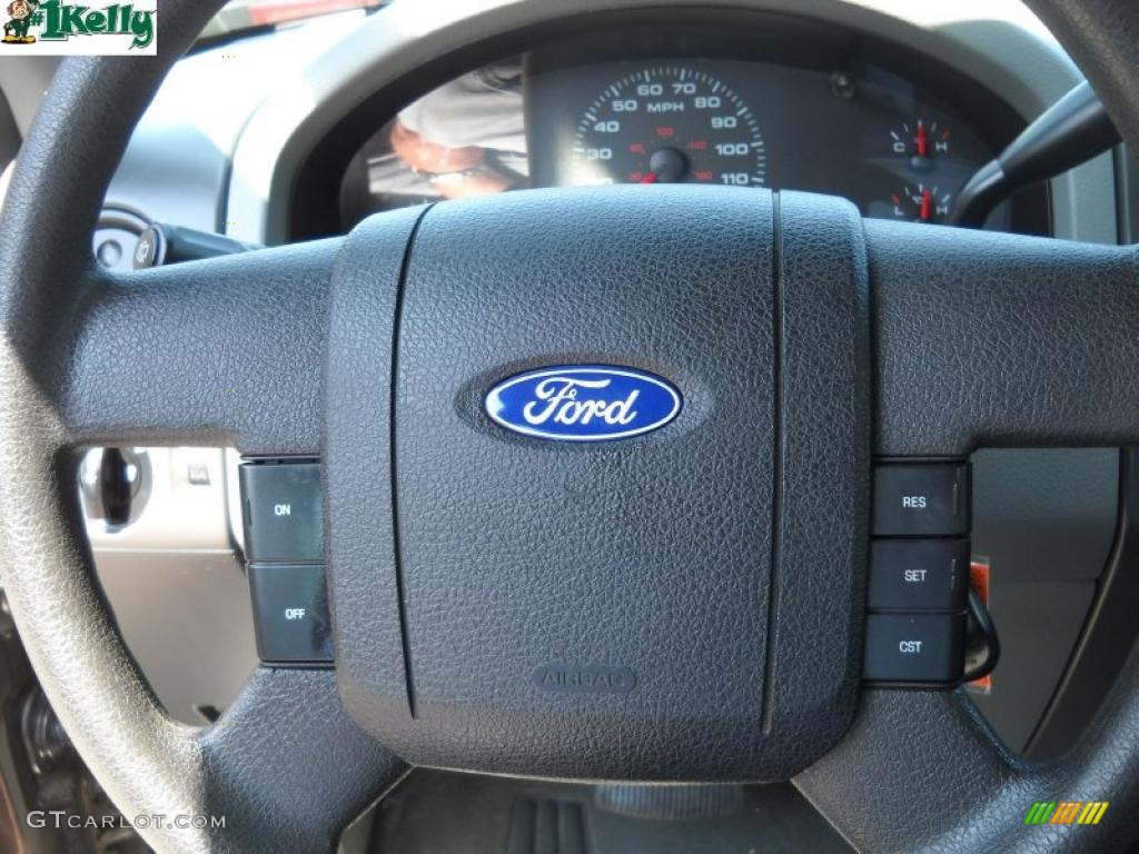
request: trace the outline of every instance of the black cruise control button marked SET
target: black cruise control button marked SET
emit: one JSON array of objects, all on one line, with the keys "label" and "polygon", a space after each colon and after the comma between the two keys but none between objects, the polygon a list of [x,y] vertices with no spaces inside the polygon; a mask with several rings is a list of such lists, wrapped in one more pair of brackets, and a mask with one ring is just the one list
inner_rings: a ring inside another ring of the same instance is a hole
[{"label": "black cruise control button marked SET", "polygon": [[875,540],[868,603],[883,610],[961,611],[968,572],[968,540]]}]

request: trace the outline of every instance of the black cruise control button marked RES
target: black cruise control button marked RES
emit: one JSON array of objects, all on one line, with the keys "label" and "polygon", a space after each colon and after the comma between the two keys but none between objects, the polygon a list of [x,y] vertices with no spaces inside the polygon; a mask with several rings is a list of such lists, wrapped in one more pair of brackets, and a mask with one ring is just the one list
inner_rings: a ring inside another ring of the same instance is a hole
[{"label": "black cruise control button marked RES", "polygon": [[875,536],[962,536],[968,531],[968,465],[875,467]]}]

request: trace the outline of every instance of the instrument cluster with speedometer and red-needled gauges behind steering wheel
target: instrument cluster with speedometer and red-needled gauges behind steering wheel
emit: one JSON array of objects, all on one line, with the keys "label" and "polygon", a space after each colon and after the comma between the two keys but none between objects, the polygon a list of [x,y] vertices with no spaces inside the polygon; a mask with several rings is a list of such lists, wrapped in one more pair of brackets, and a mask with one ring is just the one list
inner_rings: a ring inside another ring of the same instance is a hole
[{"label": "instrument cluster with speedometer and red-needled gauges behind steering wheel", "polygon": [[[959,72],[804,22],[593,34],[456,75],[385,117],[339,181],[338,225],[443,198],[614,183],[805,190],[936,224],[1021,126]],[[1041,188],[988,228],[1047,223]]]}]

